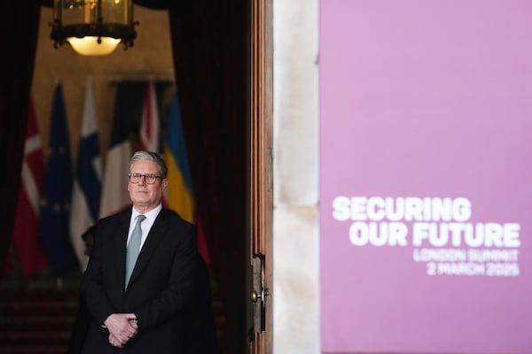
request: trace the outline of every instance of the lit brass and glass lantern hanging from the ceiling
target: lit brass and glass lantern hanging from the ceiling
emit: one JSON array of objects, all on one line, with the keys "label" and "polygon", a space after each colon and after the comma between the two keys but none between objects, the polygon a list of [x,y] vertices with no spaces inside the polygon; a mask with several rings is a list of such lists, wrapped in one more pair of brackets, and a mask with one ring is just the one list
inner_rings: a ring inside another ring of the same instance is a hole
[{"label": "lit brass and glass lantern hanging from the ceiling", "polygon": [[137,25],[133,0],[54,0],[50,36],[55,48],[67,42],[79,54],[102,56],[120,42],[133,46]]}]

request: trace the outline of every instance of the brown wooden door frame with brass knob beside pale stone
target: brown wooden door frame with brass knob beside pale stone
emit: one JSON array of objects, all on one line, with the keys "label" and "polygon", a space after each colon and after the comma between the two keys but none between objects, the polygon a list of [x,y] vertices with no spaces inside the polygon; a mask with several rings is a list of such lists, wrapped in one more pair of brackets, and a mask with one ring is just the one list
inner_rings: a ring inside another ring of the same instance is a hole
[{"label": "brown wooden door frame with brass knob beside pale stone", "polygon": [[[250,336],[253,354],[273,352],[273,1],[251,0],[250,34],[250,265],[262,255],[264,312]],[[253,272],[252,272],[253,273]],[[248,296],[251,301],[251,296]],[[256,300],[256,298],[255,298]],[[254,303],[257,304],[257,303]],[[252,304],[253,307],[253,304]],[[253,311],[252,311],[253,313]]]}]

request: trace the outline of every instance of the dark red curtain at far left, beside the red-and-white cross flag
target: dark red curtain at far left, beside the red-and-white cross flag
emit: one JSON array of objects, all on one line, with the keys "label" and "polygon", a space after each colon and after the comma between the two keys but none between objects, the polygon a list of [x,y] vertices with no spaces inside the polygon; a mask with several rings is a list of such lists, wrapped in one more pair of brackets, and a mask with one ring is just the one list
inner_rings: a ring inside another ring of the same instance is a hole
[{"label": "dark red curtain at far left, beside the red-and-white cross flag", "polygon": [[3,1],[0,5],[0,279],[11,243],[24,157],[27,105],[33,78],[41,4]]}]

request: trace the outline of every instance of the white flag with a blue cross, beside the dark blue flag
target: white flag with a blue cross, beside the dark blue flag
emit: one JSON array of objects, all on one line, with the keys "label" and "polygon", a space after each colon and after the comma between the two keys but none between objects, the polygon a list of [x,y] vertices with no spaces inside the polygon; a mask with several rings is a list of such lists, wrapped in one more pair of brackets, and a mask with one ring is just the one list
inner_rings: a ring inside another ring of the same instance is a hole
[{"label": "white flag with a blue cross, beside the dark blue flag", "polygon": [[96,123],[92,79],[88,78],[70,213],[71,242],[82,270],[87,267],[88,262],[84,254],[82,234],[98,221],[100,207],[102,161]]}]

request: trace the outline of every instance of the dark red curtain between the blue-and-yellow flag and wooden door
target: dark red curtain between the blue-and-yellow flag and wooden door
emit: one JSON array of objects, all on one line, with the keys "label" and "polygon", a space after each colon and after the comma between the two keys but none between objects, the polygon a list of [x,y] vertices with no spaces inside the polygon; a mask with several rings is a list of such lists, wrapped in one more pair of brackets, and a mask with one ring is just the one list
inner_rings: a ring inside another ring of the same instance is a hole
[{"label": "dark red curtain between the blue-and-yellow flag and wooden door", "polygon": [[216,289],[224,353],[246,348],[246,2],[170,7],[184,134]]}]

